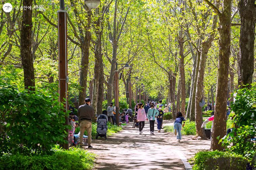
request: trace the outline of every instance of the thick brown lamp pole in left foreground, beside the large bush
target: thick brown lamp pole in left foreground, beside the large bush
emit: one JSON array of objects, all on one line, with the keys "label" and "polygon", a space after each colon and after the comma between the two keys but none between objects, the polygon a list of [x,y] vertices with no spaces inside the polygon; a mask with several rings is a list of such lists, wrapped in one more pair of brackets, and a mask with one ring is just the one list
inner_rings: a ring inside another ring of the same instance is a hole
[{"label": "thick brown lamp pole in left foreground, beside the large bush", "polygon": [[[59,49],[59,101],[64,102],[65,112],[68,110],[68,65],[67,65],[67,11],[64,9],[64,0],[60,1],[58,10],[58,49]],[[69,125],[66,117],[66,125]],[[68,129],[66,129],[68,134]],[[68,141],[68,136],[66,136]],[[68,150],[68,143],[63,145]]]}]

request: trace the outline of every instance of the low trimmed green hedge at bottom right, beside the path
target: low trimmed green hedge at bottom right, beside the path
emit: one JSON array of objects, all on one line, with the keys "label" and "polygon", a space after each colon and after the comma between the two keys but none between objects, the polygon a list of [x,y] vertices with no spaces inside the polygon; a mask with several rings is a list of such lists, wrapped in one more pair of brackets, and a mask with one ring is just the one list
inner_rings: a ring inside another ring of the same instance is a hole
[{"label": "low trimmed green hedge at bottom right, beside the path", "polygon": [[193,170],[244,170],[247,160],[232,152],[202,151],[194,157]]}]

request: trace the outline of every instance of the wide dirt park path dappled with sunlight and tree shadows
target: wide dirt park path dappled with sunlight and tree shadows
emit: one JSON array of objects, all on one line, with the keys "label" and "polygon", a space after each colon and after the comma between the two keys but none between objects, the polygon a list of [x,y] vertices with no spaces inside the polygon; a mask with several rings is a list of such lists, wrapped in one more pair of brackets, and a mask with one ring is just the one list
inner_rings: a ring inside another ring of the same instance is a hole
[{"label": "wide dirt park path dappled with sunlight and tree shadows", "polygon": [[[173,121],[164,121],[163,126]],[[156,125],[155,125],[155,129]],[[149,122],[145,122],[143,134],[138,128],[133,129],[132,123],[113,136],[94,139],[90,149],[98,155],[94,169],[191,169],[187,162],[199,150],[209,149],[210,140],[192,140],[192,136],[182,136],[177,142],[173,133],[150,134]],[[186,167],[185,167],[185,165]]]}]

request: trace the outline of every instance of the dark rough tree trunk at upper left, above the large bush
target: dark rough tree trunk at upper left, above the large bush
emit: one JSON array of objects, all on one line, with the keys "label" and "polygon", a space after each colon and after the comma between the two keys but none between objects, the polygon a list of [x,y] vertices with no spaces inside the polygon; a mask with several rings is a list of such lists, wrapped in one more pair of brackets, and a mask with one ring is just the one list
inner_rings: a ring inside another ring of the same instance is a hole
[{"label": "dark rough tree trunk at upper left, above the large bush", "polygon": [[[23,6],[32,6],[32,0],[23,0]],[[21,24],[21,58],[24,72],[25,89],[35,90],[30,88],[35,86],[35,74],[32,58],[32,9],[24,10],[22,14]]]}]

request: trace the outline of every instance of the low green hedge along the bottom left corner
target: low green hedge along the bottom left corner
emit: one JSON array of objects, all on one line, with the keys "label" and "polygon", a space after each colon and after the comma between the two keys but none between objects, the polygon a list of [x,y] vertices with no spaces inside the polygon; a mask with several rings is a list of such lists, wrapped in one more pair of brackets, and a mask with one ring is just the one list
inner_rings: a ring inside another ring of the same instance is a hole
[{"label": "low green hedge along the bottom left corner", "polygon": [[19,154],[0,157],[0,170],[4,169],[48,169],[72,170],[92,169],[95,154],[79,148],[55,150],[52,155],[24,156]]}]

